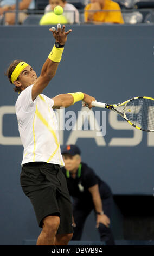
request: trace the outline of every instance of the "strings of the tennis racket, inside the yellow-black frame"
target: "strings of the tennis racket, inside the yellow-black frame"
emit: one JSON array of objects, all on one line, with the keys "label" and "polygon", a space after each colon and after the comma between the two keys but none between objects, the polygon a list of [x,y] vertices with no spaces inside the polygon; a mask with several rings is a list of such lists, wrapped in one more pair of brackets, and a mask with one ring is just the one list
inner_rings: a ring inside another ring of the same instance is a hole
[{"label": "strings of the tennis racket, inside the yellow-black frame", "polygon": [[139,98],[124,106],[124,114],[134,125],[143,130],[154,130],[154,101]]}]

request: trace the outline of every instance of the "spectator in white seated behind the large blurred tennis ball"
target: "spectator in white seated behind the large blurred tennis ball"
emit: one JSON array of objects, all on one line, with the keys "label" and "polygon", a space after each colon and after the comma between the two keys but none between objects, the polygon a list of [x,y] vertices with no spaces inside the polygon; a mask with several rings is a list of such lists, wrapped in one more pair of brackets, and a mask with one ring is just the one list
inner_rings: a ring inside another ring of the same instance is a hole
[{"label": "spectator in white seated behind the large blurred tennis ball", "polygon": [[53,11],[57,5],[60,5],[63,8],[63,16],[66,17],[67,23],[79,23],[79,11],[74,7],[73,4],[68,4],[65,0],[49,0],[49,4],[44,10],[45,14],[48,11]]}]

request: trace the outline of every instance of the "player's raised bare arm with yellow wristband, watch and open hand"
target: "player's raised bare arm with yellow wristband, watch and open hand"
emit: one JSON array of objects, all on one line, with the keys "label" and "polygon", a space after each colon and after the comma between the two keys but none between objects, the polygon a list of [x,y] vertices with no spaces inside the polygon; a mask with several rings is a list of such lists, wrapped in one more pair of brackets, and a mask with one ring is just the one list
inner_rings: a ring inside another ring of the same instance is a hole
[{"label": "player's raised bare arm with yellow wristband, watch and open hand", "polygon": [[72,31],[71,29],[65,32],[65,25],[61,29],[61,25],[57,25],[57,30],[53,27],[49,29],[52,31],[56,40],[55,45],[50,52],[46,62],[44,63],[41,75],[34,83],[32,89],[32,99],[34,100],[46,88],[50,80],[55,76],[57,67],[60,63],[63,53],[64,45],[67,41],[67,35]]}]

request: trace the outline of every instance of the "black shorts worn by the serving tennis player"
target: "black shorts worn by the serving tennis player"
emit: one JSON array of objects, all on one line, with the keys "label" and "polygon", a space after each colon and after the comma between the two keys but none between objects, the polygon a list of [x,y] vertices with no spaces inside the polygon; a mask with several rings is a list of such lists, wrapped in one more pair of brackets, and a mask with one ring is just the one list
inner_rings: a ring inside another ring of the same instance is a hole
[{"label": "black shorts worn by the serving tennis player", "polygon": [[60,216],[57,234],[73,233],[72,203],[59,165],[46,162],[23,164],[21,186],[33,204],[40,228],[44,217],[57,215]]}]

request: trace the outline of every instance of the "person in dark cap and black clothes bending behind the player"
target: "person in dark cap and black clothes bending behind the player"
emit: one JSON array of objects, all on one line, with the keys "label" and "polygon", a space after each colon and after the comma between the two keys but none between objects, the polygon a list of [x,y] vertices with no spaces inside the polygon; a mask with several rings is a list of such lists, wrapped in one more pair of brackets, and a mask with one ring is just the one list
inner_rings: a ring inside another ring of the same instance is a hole
[{"label": "person in dark cap and black clothes bending behind the player", "polygon": [[92,168],[81,162],[81,151],[76,145],[67,145],[62,150],[67,187],[73,199],[72,240],[80,240],[87,216],[92,210],[96,216],[96,228],[100,240],[106,245],[115,245],[110,228],[112,192],[110,187],[95,175]]}]

